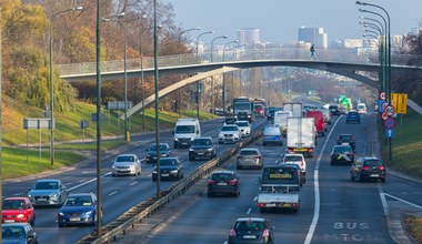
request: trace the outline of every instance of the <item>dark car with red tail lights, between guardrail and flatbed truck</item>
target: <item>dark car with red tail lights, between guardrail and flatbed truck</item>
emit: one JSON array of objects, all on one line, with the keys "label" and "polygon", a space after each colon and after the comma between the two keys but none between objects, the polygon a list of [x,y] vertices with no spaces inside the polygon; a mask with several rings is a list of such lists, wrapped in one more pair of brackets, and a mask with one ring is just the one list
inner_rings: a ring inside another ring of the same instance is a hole
[{"label": "dark car with red tail lights, between guardrail and flatbed truck", "polygon": [[239,176],[233,171],[214,171],[208,179],[209,197],[215,194],[240,194]]}]

